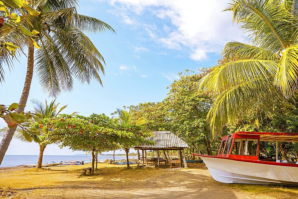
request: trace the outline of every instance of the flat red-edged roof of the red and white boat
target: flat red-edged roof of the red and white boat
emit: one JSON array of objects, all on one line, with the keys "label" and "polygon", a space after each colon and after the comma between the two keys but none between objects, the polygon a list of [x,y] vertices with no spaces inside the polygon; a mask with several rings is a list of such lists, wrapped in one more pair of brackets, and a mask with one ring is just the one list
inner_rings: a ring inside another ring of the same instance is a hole
[{"label": "flat red-edged roof of the red and white boat", "polygon": [[298,133],[243,132],[238,135],[260,135],[260,141],[298,142]]}]

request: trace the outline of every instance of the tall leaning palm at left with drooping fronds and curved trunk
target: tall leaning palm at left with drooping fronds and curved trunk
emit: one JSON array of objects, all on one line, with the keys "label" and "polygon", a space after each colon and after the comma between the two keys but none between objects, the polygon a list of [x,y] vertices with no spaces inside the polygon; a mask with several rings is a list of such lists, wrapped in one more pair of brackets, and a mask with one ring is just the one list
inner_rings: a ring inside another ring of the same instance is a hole
[{"label": "tall leaning palm at left with drooping fronds and curved trunk", "polygon": [[[71,91],[73,78],[81,83],[91,79],[102,85],[105,61],[91,40],[83,33],[103,33],[114,30],[97,18],[77,13],[77,0],[31,0],[30,5],[41,12],[40,16],[22,16],[21,24],[39,34],[32,39],[17,34],[10,27],[2,27],[1,41],[9,41],[28,49],[27,74],[17,112],[24,111],[28,100],[33,66],[41,87],[49,96],[58,96],[61,91]],[[35,48],[38,48],[35,52]],[[4,57],[3,59],[5,59]],[[9,60],[4,61],[8,63]],[[0,164],[13,137],[15,129],[8,129],[0,144]]]}]

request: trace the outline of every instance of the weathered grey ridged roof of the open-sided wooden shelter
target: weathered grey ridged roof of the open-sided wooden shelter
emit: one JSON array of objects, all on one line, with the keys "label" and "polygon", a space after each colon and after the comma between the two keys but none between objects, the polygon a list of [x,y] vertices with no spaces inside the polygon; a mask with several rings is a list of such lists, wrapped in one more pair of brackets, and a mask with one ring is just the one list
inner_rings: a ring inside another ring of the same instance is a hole
[{"label": "weathered grey ridged roof of the open-sided wooden shelter", "polygon": [[134,148],[141,150],[181,150],[189,148],[186,142],[170,131],[153,131],[152,134],[153,136],[146,140],[155,142],[154,145],[143,144]]}]

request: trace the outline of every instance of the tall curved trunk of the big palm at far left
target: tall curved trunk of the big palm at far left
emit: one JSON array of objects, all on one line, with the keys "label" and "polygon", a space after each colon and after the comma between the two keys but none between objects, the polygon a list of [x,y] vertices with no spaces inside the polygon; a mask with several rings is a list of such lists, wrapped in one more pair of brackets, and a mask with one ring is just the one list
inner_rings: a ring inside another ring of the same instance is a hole
[{"label": "tall curved trunk of the big palm at far left", "polygon": [[[18,109],[16,109],[16,112],[18,113],[24,111],[25,109],[24,105],[26,105],[28,100],[32,76],[33,76],[33,65],[34,65],[34,46],[30,45],[28,48],[27,74],[26,74],[25,84],[20,98],[19,107]],[[7,129],[7,131],[5,132],[2,138],[2,141],[0,143],[0,165],[8,149],[10,141],[13,138],[15,129],[16,127],[14,129]]]}]

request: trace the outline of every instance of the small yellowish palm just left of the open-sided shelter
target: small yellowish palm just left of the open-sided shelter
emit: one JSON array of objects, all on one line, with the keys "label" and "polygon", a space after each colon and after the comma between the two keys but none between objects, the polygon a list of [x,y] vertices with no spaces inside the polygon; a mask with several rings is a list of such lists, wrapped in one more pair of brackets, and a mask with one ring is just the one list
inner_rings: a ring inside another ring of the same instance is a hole
[{"label": "small yellowish palm just left of the open-sided shelter", "polygon": [[[129,112],[127,112],[127,111],[122,110],[122,109],[117,109],[116,113],[117,113],[118,118],[119,118],[120,126],[122,128],[125,128],[125,129],[131,129],[131,127],[133,127],[133,126],[142,126],[146,122],[145,118],[142,118],[142,117],[139,118],[137,121],[134,121],[131,118],[130,110],[129,110]],[[133,139],[133,138],[131,138],[131,139]],[[131,144],[130,141],[124,141],[123,143],[120,143],[120,145],[122,145],[123,149],[125,150],[126,163],[127,163],[128,167],[129,167],[128,152],[129,152],[129,149],[130,149],[130,144]]]}]

